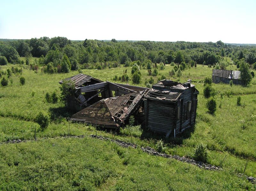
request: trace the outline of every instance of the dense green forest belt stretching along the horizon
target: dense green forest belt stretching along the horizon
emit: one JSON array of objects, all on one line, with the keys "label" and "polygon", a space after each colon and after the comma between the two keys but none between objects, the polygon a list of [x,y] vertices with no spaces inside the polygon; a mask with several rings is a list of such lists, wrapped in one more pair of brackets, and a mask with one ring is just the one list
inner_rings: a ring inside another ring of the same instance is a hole
[{"label": "dense green forest belt stretching along the horizon", "polygon": [[[69,72],[82,68],[125,66],[131,62],[163,63],[182,62],[215,66],[223,57],[230,57],[235,64],[256,62],[255,46],[236,46],[214,42],[155,42],[155,41],[71,41],[66,37],[41,37],[30,40],[0,41],[0,56],[12,64],[20,63],[19,57],[38,57],[49,73]],[[4,58],[5,57],[5,58]],[[1,62],[2,63],[2,62]],[[27,63],[28,64],[28,63]]]}]

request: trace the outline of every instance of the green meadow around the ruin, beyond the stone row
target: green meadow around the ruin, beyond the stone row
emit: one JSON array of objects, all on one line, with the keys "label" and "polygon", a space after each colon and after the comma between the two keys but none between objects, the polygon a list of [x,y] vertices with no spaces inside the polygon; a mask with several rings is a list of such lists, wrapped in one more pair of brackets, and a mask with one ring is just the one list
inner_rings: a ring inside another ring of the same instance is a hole
[{"label": "green meadow around the ruin, beyond the stone row", "polygon": [[[8,66],[1,67],[2,70],[6,70]],[[235,70],[235,66],[230,66],[230,69]],[[113,81],[115,75],[121,76],[123,70],[127,69],[128,75],[131,77],[131,68],[114,68],[105,70],[83,70],[83,73],[99,78],[101,80]],[[157,78],[162,74],[172,80],[176,78],[169,77],[169,70],[171,66],[166,66],[165,70],[160,70],[157,77],[154,77],[155,82]],[[145,78],[147,76],[147,70],[141,70],[142,82],[140,86],[144,86]],[[204,142],[211,150],[209,152],[209,162],[214,165],[219,165],[227,155],[223,166],[230,170],[230,172],[243,172],[245,159],[243,156],[252,158],[249,161],[246,174],[256,177],[256,124],[255,124],[255,93],[256,79],[254,78],[249,87],[241,87],[239,85],[233,85],[230,87],[228,84],[213,84],[213,87],[218,91],[217,106],[221,102],[221,109],[218,107],[215,116],[211,116],[206,113],[205,102],[203,98],[203,83],[200,82],[205,76],[211,76],[212,69],[207,66],[197,65],[197,68],[191,68],[190,70],[183,71],[183,76],[180,81],[184,82],[188,78],[196,81],[194,84],[196,88],[201,92],[198,98],[198,116],[196,119],[196,126],[194,132],[190,136],[186,136],[182,141],[182,144],[177,147],[175,145],[169,145],[165,149],[165,152],[174,154],[177,152],[179,155],[191,156],[193,153],[193,147],[198,142]],[[63,105],[61,103],[48,104],[45,103],[44,96],[46,92],[53,92],[57,90],[60,93],[58,81],[65,77],[77,74],[77,71],[72,71],[68,74],[41,74],[35,73],[31,70],[23,70],[22,76],[26,78],[26,84],[20,86],[19,76],[12,76],[13,84],[9,84],[7,87],[0,87],[0,141],[6,141],[12,139],[30,139],[34,136],[34,117],[39,111],[48,112],[50,108],[60,108]],[[10,82],[9,82],[10,83]],[[131,84],[131,81],[129,81]],[[242,101],[245,103],[245,107],[236,106],[237,96],[231,95],[230,97],[224,95],[221,99],[220,93],[235,92],[241,94]],[[35,92],[35,96],[32,97],[32,92]],[[248,94],[249,93],[249,94]],[[248,94],[248,95],[244,95]],[[10,118],[11,117],[11,118]],[[16,118],[16,119],[14,119]],[[241,128],[241,120],[245,121],[246,128]],[[24,121],[27,120],[27,121]],[[37,125],[38,128],[38,125]],[[67,135],[68,123],[65,120],[58,120],[52,122],[50,126],[43,132],[37,130],[37,136],[53,137]],[[91,134],[95,133],[95,129],[90,126],[71,123],[70,132],[72,135]],[[106,132],[98,132],[104,136],[111,137],[111,134]],[[119,139],[130,141],[130,137],[119,135]],[[154,147],[154,141],[152,139],[141,140],[140,138],[133,138],[133,142],[140,145],[150,145]],[[235,157],[234,154],[237,156]]]}]

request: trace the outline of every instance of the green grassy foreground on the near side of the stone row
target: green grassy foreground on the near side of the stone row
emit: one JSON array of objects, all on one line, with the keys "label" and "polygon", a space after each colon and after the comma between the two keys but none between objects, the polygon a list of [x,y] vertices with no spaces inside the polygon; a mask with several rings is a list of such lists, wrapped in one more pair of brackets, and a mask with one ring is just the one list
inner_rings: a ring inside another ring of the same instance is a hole
[{"label": "green grassy foreground on the near side of the stone row", "polygon": [[1,190],[253,189],[228,171],[206,171],[92,138],[2,145],[0,153]]}]

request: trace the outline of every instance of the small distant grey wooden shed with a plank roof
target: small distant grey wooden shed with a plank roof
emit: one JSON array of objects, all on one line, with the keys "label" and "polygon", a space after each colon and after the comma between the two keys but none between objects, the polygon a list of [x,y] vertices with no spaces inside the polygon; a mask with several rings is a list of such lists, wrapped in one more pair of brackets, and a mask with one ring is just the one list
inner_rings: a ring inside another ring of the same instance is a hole
[{"label": "small distant grey wooden shed with a plank roof", "polygon": [[242,84],[242,81],[240,79],[240,71],[233,71],[233,70],[218,70],[213,69],[212,70],[212,82],[213,83],[226,83],[228,84],[231,80],[233,81],[233,84]]}]

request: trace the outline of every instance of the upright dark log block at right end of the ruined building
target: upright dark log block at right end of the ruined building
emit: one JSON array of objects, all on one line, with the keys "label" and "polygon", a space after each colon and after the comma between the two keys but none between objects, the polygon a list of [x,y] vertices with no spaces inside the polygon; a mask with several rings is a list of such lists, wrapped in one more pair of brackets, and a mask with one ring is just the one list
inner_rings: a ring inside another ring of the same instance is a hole
[{"label": "upright dark log block at right end of the ruined building", "polygon": [[196,121],[195,85],[161,80],[145,94],[146,127],[151,131],[176,136]]}]

